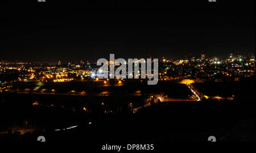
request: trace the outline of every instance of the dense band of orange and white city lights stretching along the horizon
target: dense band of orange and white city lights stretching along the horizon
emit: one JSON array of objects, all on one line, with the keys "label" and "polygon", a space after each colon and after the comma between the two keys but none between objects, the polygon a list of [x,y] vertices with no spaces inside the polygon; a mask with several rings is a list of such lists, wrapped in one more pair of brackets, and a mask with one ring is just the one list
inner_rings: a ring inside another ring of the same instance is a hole
[{"label": "dense band of orange and white city lights stretching along the horizon", "polygon": [[[219,59],[218,57],[207,58],[205,55],[201,55],[199,59],[195,59],[195,57],[188,59],[186,57],[180,60],[168,60],[163,57],[160,61],[162,61],[163,66],[161,67],[162,70],[159,73],[160,77],[158,80],[164,81],[180,81],[181,78],[195,79],[202,76],[210,78],[216,76],[251,77],[255,75],[255,57],[253,54],[250,58],[230,54],[226,59]],[[110,64],[110,61],[108,63]],[[138,65],[138,63],[134,64]],[[88,77],[92,77],[93,81],[102,81],[103,85],[109,85],[109,81],[97,78],[97,68],[92,68],[88,64],[84,65],[83,62],[80,64],[69,64],[65,67],[63,64],[43,66],[42,64],[36,65],[35,63],[22,63],[19,61],[0,61],[0,73],[13,73],[12,71],[6,71],[8,69],[20,72],[19,77],[13,81],[87,81]],[[127,73],[126,75],[139,77],[141,76],[139,72],[136,75],[133,73]],[[172,72],[179,75],[172,75]],[[68,77],[69,74],[72,75]],[[74,77],[71,78],[72,76]],[[109,76],[113,77],[111,74]],[[123,82],[117,80],[117,85],[122,85]]]}]

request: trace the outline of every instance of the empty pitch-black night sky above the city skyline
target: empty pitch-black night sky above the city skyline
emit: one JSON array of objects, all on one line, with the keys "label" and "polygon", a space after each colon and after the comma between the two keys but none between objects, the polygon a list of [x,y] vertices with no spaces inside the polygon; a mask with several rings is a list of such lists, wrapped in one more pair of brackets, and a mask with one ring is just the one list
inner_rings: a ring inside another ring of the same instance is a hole
[{"label": "empty pitch-black night sky above the city skyline", "polygon": [[255,53],[255,1],[11,1],[0,13],[0,60]]}]

